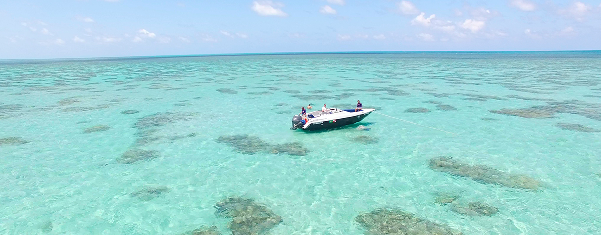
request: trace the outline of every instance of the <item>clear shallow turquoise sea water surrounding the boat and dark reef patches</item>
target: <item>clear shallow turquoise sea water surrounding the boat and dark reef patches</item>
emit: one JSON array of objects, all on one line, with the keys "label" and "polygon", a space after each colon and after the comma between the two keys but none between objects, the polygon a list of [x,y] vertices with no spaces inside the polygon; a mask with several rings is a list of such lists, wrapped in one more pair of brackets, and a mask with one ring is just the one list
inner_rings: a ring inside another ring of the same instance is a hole
[{"label": "clear shallow turquoise sea water surrounding the boat and dark reef patches", "polygon": [[[281,216],[270,234],[362,234],[356,216],[389,207],[463,234],[601,233],[601,52],[0,61],[0,96],[0,139],[16,137],[0,141],[0,234],[230,234],[215,213],[227,197]],[[301,106],[358,99],[459,135],[379,114],[289,129]],[[308,153],[245,154],[218,139],[230,135]],[[153,154],[124,163],[132,149]],[[542,188],[436,171],[439,156]],[[148,188],[168,190],[136,197]],[[453,212],[439,193],[498,213]]]}]

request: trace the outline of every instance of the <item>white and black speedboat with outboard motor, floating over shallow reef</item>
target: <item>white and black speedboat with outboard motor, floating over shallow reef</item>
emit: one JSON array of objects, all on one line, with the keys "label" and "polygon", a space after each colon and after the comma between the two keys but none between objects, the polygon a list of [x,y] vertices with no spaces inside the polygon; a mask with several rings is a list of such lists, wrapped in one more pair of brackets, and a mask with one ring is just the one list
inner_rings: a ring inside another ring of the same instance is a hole
[{"label": "white and black speedboat with outboard motor, floating over shallow reef", "polygon": [[307,120],[304,120],[301,115],[297,114],[292,118],[292,127],[290,127],[290,130],[320,130],[346,126],[363,120],[363,118],[370,115],[373,111],[376,111],[376,109],[355,111],[355,109],[331,108],[325,113],[321,110],[310,112],[307,114]]}]

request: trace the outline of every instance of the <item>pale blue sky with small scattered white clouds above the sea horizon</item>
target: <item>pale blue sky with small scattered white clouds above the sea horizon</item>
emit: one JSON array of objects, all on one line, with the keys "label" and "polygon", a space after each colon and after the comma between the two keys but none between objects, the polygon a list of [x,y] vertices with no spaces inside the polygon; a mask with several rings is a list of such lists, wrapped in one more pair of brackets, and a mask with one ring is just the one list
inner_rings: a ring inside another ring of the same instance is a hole
[{"label": "pale blue sky with small scattered white clouds above the sea horizon", "polygon": [[0,1],[0,59],[600,45],[601,0]]}]

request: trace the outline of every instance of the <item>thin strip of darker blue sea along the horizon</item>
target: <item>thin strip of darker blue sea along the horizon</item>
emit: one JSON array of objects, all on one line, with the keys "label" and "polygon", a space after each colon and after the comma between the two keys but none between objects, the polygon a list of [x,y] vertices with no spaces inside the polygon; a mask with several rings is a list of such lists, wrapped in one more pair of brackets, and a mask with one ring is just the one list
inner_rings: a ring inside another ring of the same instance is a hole
[{"label": "thin strip of darker blue sea along the horizon", "polygon": [[356,50],[329,52],[248,52],[248,53],[209,53],[185,55],[133,55],[133,56],[100,56],[100,57],[62,57],[62,58],[26,58],[0,59],[0,61],[27,60],[115,60],[142,58],[178,58],[178,57],[210,57],[210,56],[252,56],[252,55],[328,55],[328,54],[386,54],[386,53],[490,53],[490,52],[601,52],[598,50]]}]

